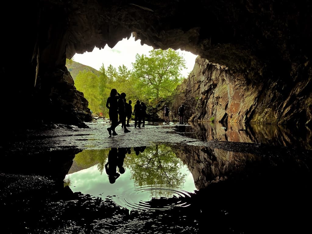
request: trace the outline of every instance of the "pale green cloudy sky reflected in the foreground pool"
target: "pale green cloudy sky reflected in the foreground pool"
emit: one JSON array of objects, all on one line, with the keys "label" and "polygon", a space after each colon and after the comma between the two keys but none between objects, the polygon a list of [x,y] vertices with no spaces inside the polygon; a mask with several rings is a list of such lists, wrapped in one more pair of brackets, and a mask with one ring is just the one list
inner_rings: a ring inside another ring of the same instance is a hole
[{"label": "pale green cloudy sky reflected in the foreground pool", "polygon": [[[185,183],[180,186],[170,186],[171,189],[184,190],[189,193],[194,193],[196,190],[194,185],[193,176],[188,170],[187,166],[183,165],[180,168],[182,174],[186,174]],[[95,197],[102,197],[105,199],[107,196],[114,196],[113,200],[124,206],[124,201],[137,203],[138,201],[149,201],[151,193],[146,192],[136,192],[137,187],[134,186],[134,181],[130,179],[130,169],[127,168],[124,174],[121,174],[117,178],[116,182],[111,184],[108,180],[108,176],[104,172],[102,175],[98,171],[97,165],[90,168],[69,174],[66,176],[70,178],[71,185],[70,188],[73,192],[81,192],[84,194],[90,194]],[[145,186],[146,188],[146,186]],[[150,187],[150,188],[155,188]],[[170,197],[176,194],[171,194]],[[116,196],[116,197],[115,197]]]}]

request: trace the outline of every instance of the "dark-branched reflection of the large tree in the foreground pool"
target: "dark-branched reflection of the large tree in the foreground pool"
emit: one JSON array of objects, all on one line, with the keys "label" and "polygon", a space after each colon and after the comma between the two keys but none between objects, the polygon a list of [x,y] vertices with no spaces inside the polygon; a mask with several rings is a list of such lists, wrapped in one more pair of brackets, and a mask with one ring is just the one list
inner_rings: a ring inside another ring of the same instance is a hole
[{"label": "dark-branched reflection of the large tree in the foreground pool", "polygon": [[183,165],[172,149],[166,145],[148,147],[139,155],[129,156],[131,179],[136,186],[169,184],[180,185],[186,174],[180,172]]}]

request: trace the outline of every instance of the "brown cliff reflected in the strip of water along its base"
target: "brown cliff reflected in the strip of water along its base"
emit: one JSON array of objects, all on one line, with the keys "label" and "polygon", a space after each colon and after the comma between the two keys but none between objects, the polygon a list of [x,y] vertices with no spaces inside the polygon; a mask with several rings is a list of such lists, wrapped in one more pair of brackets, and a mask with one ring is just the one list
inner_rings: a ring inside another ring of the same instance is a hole
[{"label": "brown cliff reflected in the strip of water along its base", "polygon": [[189,122],[177,132],[200,141],[231,141],[274,144],[285,147],[312,149],[312,132],[308,127],[286,128],[271,124],[239,124]]}]

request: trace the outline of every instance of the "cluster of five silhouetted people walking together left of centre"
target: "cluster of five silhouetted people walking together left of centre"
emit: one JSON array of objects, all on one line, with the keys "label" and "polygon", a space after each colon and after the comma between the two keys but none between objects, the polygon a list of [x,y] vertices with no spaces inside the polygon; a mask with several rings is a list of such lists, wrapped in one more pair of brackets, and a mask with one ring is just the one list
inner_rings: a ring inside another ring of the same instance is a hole
[{"label": "cluster of five silhouetted people walking together left of centre", "polygon": [[[107,128],[107,131],[110,136],[117,136],[116,127],[121,123],[121,127],[124,129],[125,133],[129,133],[130,130],[127,127],[130,127],[129,120],[132,115],[134,115],[134,128],[137,126],[141,128],[145,127],[145,116],[146,116],[146,105],[144,102],[136,101],[134,105],[134,111],[132,112],[132,101],[129,100],[127,103],[126,94],[119,94],[116,89],[110,91],[110,96],[107,98],[106,107],[109,109],[109,117],[111,125]],[[118,119],[119,115],[119,119]]]}]

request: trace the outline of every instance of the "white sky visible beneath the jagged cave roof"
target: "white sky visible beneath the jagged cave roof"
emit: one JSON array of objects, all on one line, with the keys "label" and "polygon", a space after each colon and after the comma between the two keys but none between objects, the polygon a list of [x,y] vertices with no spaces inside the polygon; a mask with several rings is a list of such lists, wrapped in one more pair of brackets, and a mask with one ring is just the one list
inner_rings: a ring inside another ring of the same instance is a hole
[{"label": "white sky visible beneath the jagged cave roof", "polygon": [[[85,52],[83,54],[75,54],[73,60],[81,64],[100,70],[102,64],[107,68],[110,64],[117,70],[119,66],[126,66],[129,70],[132,70],[132,62],[135,62],[135,55],[145,54],[149,56],[149,51],[153,50],[152,46],[143,45],[141,46],[141,40],[134,40],[134,37],[130,37],[129,40],[124,38],[119,41],[113,48],[108,45],[104,49],[94,48],[92,52]],[[188,51],[177,50],[186,61],[187,69],[183,69],[181,74],[186,78],[189,73],[193,70],[195,59],[197,55],[193,55]]]}]

